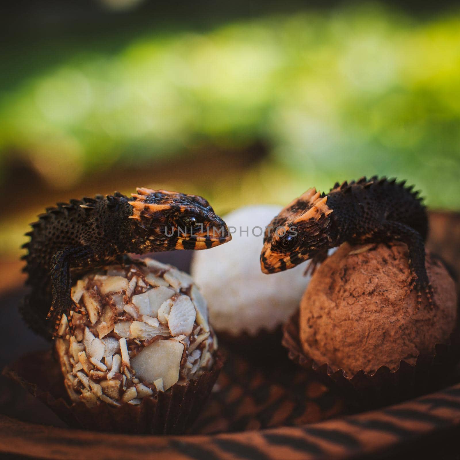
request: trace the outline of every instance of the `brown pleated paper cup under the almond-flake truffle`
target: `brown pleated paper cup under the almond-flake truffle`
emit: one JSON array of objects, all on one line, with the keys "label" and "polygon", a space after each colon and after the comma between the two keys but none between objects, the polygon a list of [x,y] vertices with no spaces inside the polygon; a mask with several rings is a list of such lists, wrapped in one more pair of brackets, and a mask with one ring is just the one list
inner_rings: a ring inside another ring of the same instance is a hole
[{"label": "brown pleated paper cup under the almond-flake truffle", "polygon": [[3,374],[23,385],[71,427],[114,433],[181,434],[200,413],[223,364],[222,354],[217,351],[211,371],[185,385],[156,391],[138,405],[127,403],[121,407],[101,403],[88,408],[84,403],[70,402],[51,351],[24,355],[6,367]]}]

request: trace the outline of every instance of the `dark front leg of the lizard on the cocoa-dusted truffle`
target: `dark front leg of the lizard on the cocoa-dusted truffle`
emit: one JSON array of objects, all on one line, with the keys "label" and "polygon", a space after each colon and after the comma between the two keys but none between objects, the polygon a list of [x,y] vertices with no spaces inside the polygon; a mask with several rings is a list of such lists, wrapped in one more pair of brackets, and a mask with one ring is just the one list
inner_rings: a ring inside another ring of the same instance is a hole
[{"label": "dark front leg of the lizard on the cocoa-dusted truffle", "polygon": [[420,233],[406,224],[399,222],[385,221],[382,232],[387,241],[401,241],[408,245],[409,268],[412,272],[412,279],[409,282],[410,290],[417,290],[417,307],[422,302],[422,292],[425,292],[428,304],[433,306],[433,289],[426,273],[425,267],[425,244]]}]

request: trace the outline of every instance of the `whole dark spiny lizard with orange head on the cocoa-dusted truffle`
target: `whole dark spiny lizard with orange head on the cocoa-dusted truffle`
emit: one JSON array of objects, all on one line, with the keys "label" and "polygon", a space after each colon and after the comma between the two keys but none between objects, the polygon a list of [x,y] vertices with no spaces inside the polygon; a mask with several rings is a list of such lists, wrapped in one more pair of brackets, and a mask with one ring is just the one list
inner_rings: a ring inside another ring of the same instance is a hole
[{"label": "whole dark spiny lizard with orange head on the cocoa-dusted truffle", "polygon": [[[307,190],[292,201],[265,231],[260,255],[264,273],[276,273],[313,259],[312,267],[327,257],[328,249],[351,244],[404,242],[408,246],[412,279],[420,307],[425,291],[432,306],[432,289],[425,268],[428,233],[426,208],[418,192],[396,179],[361,178],[336,183],[327,195]],[[276,230],[278,229],[278,230]]]}]

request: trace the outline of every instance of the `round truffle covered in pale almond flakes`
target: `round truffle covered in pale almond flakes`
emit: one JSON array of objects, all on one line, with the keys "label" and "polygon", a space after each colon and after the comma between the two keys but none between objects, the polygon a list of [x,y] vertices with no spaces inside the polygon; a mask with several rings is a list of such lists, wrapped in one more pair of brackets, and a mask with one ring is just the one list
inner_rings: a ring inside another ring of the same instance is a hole
[{"label": "round truffle covered in pale almond flakes", "polygon": [[[74,334],[63,316],[56,349],[74,402],[120,406],[210,370],[217,340],[192,278],[153,259],[78,280]],[[84,314],[86,313],[86,314]]]}]

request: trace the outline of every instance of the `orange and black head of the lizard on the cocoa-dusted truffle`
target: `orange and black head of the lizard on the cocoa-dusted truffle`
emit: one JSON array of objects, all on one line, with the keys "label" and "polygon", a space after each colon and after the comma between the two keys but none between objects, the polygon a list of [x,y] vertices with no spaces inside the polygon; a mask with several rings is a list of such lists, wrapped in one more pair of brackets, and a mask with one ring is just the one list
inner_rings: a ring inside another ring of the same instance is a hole
[{"label": "orange and black head of the lizard on the cocoa-dusted truffle", "polygon": [[293,268],[328,247],[328,216],[333,210],[327,200],[316,189],[309,189],[270,222],[260,254],[264,273]]}]

